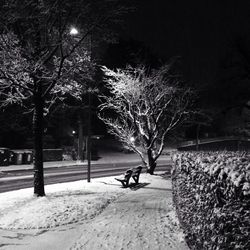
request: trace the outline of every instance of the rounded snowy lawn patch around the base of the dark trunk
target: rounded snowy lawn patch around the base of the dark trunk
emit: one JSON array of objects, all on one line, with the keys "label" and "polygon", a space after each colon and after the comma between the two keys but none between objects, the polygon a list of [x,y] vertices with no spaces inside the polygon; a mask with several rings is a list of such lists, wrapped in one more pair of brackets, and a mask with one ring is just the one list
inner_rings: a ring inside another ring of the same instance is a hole
[{"label": "rounded snowy lawn patch around the base of the dark trunk", "polygon": [[127,190],[108,177],[48,185],[45,191],[40,198],[33,188],[0,194],[0,228],[53,228],[91,219]]}]

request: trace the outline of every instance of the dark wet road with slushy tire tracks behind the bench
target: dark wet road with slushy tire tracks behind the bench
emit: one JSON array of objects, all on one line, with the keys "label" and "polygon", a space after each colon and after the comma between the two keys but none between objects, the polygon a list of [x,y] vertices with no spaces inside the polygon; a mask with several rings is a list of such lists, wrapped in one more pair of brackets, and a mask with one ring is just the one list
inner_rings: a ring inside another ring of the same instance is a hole
[{"label": "dark wet road with slushy tire tracks behind the bench", "polygon": [[[91,178],[114,176],[124,173],[128,168],[138,166],[140,162],[104,163],[91,165]],[[159,162],[157,170],[170,172],[170,162]],[[145,170],[144,170],[145,172]],[[87,166],[75,165],[44,169],[45,185],[87,179]],[[12,170],[0,175],[0,193],[33,187],[33,170]]]}]

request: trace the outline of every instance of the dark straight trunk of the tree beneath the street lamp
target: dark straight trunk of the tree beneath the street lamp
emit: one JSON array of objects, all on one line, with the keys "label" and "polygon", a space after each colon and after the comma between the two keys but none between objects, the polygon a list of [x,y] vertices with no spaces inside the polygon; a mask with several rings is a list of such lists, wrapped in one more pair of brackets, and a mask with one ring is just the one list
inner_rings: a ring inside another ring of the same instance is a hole
[{"label": "dark straight trunk of the tree beneath the street lamp", "polygon": [[34,194],[45,196],[43,176],[43,98],[34,96],[33,136],[34,136]]}]

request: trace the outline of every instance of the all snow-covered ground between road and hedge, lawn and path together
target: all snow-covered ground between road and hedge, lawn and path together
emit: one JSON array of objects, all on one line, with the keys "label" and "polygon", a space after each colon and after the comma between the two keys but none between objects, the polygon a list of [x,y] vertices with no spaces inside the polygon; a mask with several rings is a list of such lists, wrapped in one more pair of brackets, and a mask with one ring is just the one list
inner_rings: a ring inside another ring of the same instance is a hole
[{"label": "all snow-covered ground between road and hedge, lawn and path together", "polygon": [[172,206],[170,180],[141,174],[121,188],[114,177],[0,194],[1,249],[188,249]]}]

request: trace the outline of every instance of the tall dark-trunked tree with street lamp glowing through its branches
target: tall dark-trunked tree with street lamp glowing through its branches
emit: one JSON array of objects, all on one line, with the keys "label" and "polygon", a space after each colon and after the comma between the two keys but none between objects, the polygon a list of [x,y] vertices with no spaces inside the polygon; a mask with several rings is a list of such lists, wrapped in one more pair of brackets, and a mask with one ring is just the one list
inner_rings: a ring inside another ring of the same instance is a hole
[{"label": "tall dark-trunked tree with street lamp glowing through its branches", "polygon": [[89,60],[83,48],[89,36],[96,32],[100,39],[112,38],[112,32],[107,30],[124,12],[126,8],[120,1],[113,0],[1,2],[1,103],[2,106],[19,103],[32,108],[34,193],[37,196],[45,195],[44,114],[66,95],[80,96],[82,82],[79,84],[78,77],[88,77]]}]

